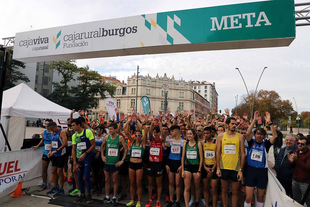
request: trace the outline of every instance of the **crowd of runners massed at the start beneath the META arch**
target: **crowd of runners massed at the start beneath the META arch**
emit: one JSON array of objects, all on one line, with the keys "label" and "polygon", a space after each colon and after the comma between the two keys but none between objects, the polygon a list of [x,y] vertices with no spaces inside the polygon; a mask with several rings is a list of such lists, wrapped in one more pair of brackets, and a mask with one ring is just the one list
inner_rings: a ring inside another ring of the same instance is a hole
[{"label": "crowd of runners massed at the start beneath the META arch", "polygon": [[[256,127],[259,111],[255,111],[253,120],[247,114],[231,116],[228,109],[219,115],[214,108],[206,119],[193,119],[194,110],[176,110],[174,115],[168,110],[160,111],[155,116],[150,111],[146,115],[133,110],[125,116],[115,109],[116,117],[105,121],[101,110],[100,118],[90,123],[83,110],[77,111],[80,116],[73,119],[73,109],[64,130],[46,119],[42,141],[33,147],[44,146],[43,185],[39,191],[47,189],[51,161],[55,185],[47,195],[62,196],[64,182],[68,181],[72,185],[69,194],[77,196],[74,203],[91,203],[91,194],[104,194],[100,204],[112,200],[116,206],[116,196],[121,194],[118,201],[128,199],[126,206],[151,207],[156,200],[156,207],[161,207],[160,199],[166,192],[166,207],[180,207],[181,199],[186,207],[216,206],[220,199],[227,207],[231,182],[233,207],[250,207],[255,192],[255,206],[263,206],[268,151],[278,137],[268,112],[264,119],[272,136]],[[297,144],[299,148],[307,147],[310,141],[299,137]],[[296,157],[288,154],[292,165]],[[244,203],[241,193],[245,193]],[[141,204],[142,195],[146,194],[148,201]]]}]

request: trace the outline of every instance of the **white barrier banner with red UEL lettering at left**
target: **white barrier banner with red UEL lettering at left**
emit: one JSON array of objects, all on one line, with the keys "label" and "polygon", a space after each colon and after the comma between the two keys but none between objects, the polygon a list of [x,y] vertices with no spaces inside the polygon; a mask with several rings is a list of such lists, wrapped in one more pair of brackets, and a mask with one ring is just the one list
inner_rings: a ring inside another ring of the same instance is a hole
[{"label": "white barrier banner with red UEL lettering at left", "polygon": [[14,192],[19,182],[22,188],[42,184],[43,151],[40,147],[0,153],[0,198]]}]

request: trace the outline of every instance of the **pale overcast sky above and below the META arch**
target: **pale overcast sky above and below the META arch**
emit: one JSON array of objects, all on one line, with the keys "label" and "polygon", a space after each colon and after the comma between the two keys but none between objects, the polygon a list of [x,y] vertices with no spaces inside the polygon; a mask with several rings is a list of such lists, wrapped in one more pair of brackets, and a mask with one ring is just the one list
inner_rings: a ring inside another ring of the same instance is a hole
[{"label": "pale overcast sky above and below the META arch", "polygon": [[[210,7],[255,1],[15,1],[2,5],[0,38],[15,36],[16,32],[45,29],[82,22],[113,19],[125,16]],[[295,0],[295,2],[307,2]],[[300,7],[304,8],[304,7]],[[277,9],[277,8],[275,8]],[[3,19],[4,17],[4,19]],[[7,19],[6,19],[7,18]],[[299,113],[309,111],[310,77],[309,38],[310,26],[296,28],[296,39],[289,47],[241,49],[171,53],[160,55],[106,57],[78,60],[78,66],[90,65],[102,75],[117,76],[127,81],[136,72],[137,65],[142,75],[155,77],[158,73],[175,79],[215,82],[219,94],[219,109],[235,105],[235,96],[246,93],[246,88],[236,67],[245,79],[247,88],[256,87],[263,67],[268,67],[260,80],[258,90],[275,90],[282,99],[297,102]],[[1,40],[3,44],[3,40]],[[180,73],[180,75],[179,75]],[[295,104],[294,104],[294,109]]]}]

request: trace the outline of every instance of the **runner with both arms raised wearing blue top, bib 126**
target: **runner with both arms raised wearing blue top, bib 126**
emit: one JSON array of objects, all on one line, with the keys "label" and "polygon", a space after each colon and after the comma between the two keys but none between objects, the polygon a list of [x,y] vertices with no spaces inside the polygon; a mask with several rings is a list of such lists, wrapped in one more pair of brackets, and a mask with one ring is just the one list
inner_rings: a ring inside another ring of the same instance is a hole
[{"label": "runner with both arms raised wearing blue top, bib 126", "polygon": [[277,140],[277,132],[273,127],[271,121],[271,116],[268,111],[266,111],[265,120],[269,124],[272,132],[272,137],[266,142],[263,141],[267,132],[263,128],[256,128],[254,130],[255,140],[251,137],[252,129],[259,120],[259,111],[255,111],[253,122],[246,132],[246,139],[249,145],[248,154],[248,167],[246,172],[246,199],[244,201],[245,207],[251,206],[251,200],[253,197],[254,187],[257,186],[257,203],[256,206],[263,207],[263,196],[268,182],[268,151],[270,147]]}]

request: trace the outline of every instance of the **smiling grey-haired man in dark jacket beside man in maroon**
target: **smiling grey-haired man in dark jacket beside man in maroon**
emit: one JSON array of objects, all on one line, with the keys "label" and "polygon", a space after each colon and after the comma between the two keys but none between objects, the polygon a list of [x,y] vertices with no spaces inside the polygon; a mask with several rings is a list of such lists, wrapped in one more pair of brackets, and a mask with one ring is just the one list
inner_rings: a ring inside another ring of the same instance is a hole
[{"label": "smiling grey-haired man in dark jacket beside man in maroon", "polygon": [[286,147],[282,148],[278,154],[277,162],[274,166],[277,172],[277,179],[284,187],[286,195],[293,198],[292,191],[292,179],[293,179],[293,169],[289,167],[289,160],[287,158],[288,153],[292,153],[298,150],[298,146],[295,145],[295,137],[292,134],[287,134],[285,137]]}]

